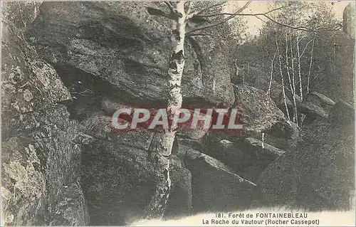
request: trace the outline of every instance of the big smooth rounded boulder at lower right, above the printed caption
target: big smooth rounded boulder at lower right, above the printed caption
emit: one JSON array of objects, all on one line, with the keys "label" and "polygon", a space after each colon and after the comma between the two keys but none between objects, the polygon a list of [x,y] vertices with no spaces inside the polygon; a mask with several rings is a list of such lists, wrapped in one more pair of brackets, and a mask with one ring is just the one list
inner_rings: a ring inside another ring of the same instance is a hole
[{"label": "big smooth rounded boulder at lower right, above the printed caption", "polygon": [[296,152],[283,154],[263,171],[261,204],[309,211],[352,208],[354,136],[353,122],[308,125]]}]

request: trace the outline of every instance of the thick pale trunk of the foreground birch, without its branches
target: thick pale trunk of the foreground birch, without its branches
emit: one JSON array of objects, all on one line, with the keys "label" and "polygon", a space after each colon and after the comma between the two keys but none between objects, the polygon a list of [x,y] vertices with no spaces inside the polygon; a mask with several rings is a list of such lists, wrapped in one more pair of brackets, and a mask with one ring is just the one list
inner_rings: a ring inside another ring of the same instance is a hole
[{"label": "thick pale trunk of the foreground birch, without its branches", "polygon": [[[182,107],[182,74],[184,68],[184,36],[186,14],[184,1],[179,1],[174,8],[177,19],[172,21],[172,55],[169,59],[169,96],[167,114],[169,126],[172,125],[174,113]],[[155,194],[145,210],[145,218],[162,218],[169,198],[171,179],[169,176],[169,159],[176,134],[176,127],[170,127],[158,134],[158,140],[152,148],[155,167]]]}]

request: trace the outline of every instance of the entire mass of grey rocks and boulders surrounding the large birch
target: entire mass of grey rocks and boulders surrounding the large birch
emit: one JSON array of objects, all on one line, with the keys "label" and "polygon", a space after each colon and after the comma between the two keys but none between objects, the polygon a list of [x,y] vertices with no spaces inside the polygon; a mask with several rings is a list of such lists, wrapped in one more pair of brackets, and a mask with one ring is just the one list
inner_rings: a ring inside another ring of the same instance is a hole
[{"label": "entire mass of grey rocks and boulders surrounding the large birch", "polygon": [[[155,187],[148,157],[157,138],[145,128],[116,130],[111,117],[122,107],[155,112],[167,100],[170,22],[147,6],[164,4],[4,4],[4,225],[117,226],[141,218]],[[300,128],[278,108],[278,85],[270,97],[251,78],[231,83],[230,47],[218,38],[192,36],[186,47],[183,106],[237,108],[244,130],[179,130],[164,218],[272,205],[350,208],[350,89],[336,103],[319,90],[304,97],[298,111],[308,124]]]}]

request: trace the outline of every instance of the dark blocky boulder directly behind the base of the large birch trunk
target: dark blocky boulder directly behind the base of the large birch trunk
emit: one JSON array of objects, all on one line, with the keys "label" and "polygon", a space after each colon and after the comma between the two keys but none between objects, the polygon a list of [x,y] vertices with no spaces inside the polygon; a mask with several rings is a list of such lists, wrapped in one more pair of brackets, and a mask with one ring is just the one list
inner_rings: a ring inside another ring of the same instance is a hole
[{"label": "dark blocky boulder directly behind the base of the large birch trunk", "polygon": [[[192,208],[192,176],[179,160],[172,161],[166,217],[187,215]],[[142,218],[154,189],[147,151],[95,138],[85,145],[83,191],[90,224],[120,226]]]}]

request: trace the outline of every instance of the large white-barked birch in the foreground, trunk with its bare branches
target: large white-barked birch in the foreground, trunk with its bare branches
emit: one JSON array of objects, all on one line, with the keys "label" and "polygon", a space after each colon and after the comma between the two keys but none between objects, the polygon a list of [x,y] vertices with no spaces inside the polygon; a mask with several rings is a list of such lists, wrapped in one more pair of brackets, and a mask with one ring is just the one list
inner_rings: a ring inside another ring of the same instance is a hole
[{"label": "large white-barked birch in the foreground, trunk with its bare branches", "polygon": [[[212,24],[207,24],[200,27],[194,27],[188,30],[188,23],[194,18],[207,18],[206,13],[209,9],[213,9],[216,6],[221,6],[225,1],[213,2],[203,9],[193,10],[191,1],[177,1],[169,2],[165,1],[169,14],[161,9],[147,8],[147,11],[151,15],[164,16],[172,20],[171,28],[171,55],[169,58],[169,68],[167,75],[169,76],[169,95],[167,100],[167,119],[168,125],[171,126],[164,129],[163,132],[156,134],[157,142],[152,146],[153,163],[155,169],[155,194],[152,196],[150,204],[145,208],[145,218],[162,218],[164,210],[167,205],[169,193],[171,189],[171,179],[169,176],[169,159],[172,154],[172,146],[174,138],[177,132],[177,126],[172,124],[174,117],[177,117],[176,113],[182,107],[182,76],[184,70],[184,38],[187,36],[204,35],[201,31],[214,26],[219,26],[222,23],[226,23],[230,19],[233,19],[241,11],[247,8],[251,1],[247,1],[241,9],[237,10],[234,14],[227,16],[220,21],[216,21]],[[214,16],[221,16],[216,14]]]}]

